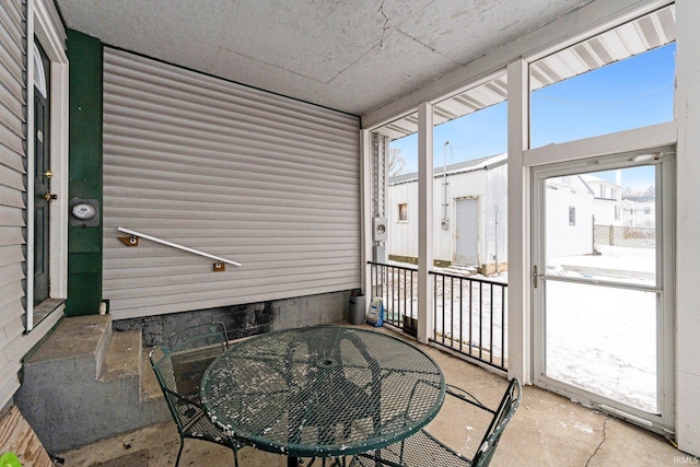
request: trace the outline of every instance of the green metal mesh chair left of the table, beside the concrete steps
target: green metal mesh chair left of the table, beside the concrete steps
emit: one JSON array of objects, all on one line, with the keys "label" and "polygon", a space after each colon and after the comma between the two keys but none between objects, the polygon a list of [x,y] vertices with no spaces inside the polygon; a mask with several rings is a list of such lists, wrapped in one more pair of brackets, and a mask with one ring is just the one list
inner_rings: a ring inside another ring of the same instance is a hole
[{"label": "green metal mesh chair left of the table, beside the concrete steps", "polygon": [[238,466],[237,452],[241,445],[211,422],[199,396],[205,371],[228,348],[224,324],[207,323],[170,335],[149,353],[151,366],[179,433],[175,466],[179,464],[186,437],[231,448],[234,464]]}]

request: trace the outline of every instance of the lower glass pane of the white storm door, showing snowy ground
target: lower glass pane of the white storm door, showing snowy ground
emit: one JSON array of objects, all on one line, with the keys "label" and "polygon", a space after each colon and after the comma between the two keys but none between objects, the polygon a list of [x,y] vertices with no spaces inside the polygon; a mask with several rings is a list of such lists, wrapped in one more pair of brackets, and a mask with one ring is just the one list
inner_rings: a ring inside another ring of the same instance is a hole
[{"label": "lower glass pane of the white storm door, showing snowy ground", "polygon": [[656,293],[545,287],[547,376],[656,413]]}]

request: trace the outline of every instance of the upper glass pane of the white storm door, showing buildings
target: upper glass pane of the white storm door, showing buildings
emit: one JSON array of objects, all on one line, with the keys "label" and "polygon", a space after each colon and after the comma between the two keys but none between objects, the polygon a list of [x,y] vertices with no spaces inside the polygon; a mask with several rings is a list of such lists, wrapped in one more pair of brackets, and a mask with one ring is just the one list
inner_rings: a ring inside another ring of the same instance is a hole
[{"label": "upper glass pane of the white storm door, showing buildings", "polygon": [[545,184],[547,275],[656,283],[654,165],[551,177]]}]

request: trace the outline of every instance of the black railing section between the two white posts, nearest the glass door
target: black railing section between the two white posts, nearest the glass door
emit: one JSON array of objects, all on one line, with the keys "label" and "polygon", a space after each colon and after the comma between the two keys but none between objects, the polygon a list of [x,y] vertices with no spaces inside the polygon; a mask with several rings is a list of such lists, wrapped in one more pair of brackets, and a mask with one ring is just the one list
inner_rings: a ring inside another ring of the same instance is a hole
[{"label": "black railing section between the two white posts, nearest the glass door", "polygon": [[433,276],[431,341],[500,370],[508,367],[508,283]]}]

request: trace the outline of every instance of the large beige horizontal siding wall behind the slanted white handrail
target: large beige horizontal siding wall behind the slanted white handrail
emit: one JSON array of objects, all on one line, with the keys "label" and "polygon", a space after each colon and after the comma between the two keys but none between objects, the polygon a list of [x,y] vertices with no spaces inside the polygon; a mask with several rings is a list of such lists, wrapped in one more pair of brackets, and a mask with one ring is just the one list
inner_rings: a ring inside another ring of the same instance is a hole
[{"label": "large beige horizontal siding wall behind the slanted white handrail", "polygon": [[[103,297],[115,318],[360,287],[359,119],[104,55]],[[226,259],[148,241],[117,226]]]}]

